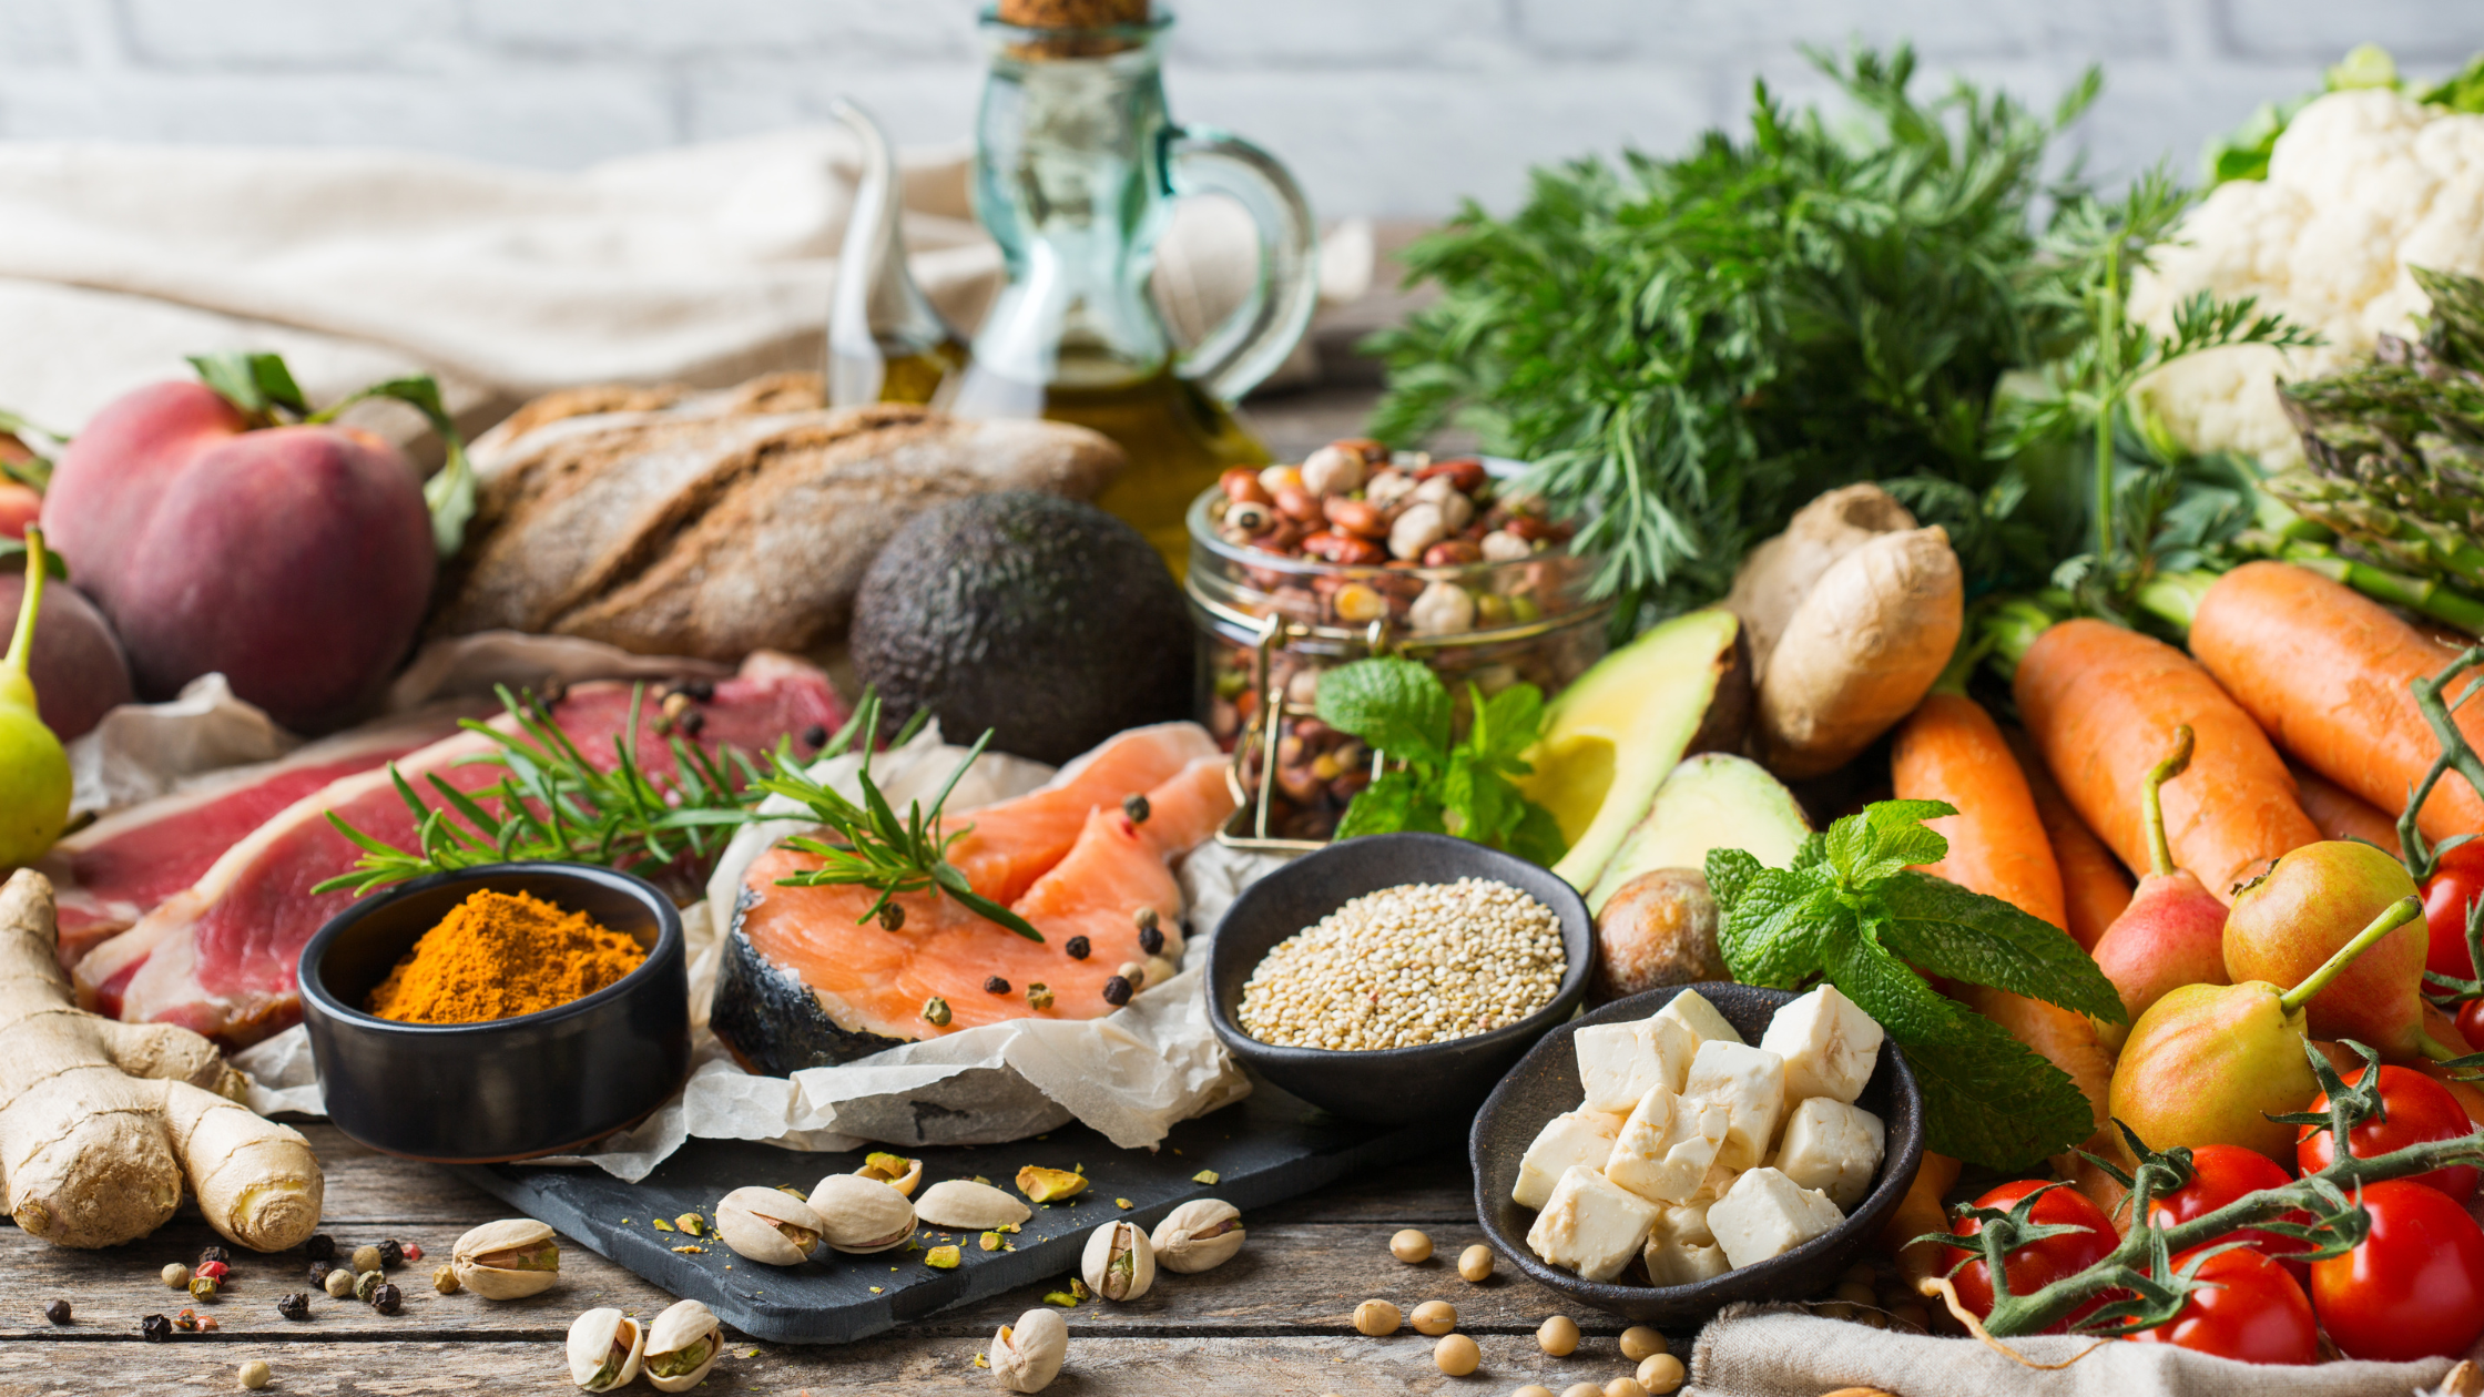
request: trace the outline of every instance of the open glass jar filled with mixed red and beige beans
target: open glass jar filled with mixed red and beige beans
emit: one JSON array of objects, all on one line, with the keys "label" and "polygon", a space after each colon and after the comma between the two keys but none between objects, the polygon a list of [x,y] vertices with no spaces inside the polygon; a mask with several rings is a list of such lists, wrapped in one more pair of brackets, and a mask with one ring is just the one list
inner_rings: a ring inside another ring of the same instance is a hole
[{"label": "open glass jar filled with mixed red and beige beans", "polygon": [[1595,559],[1508,490],[1518,470],[1339,440],[1299,465],[1227,470],[1190,505],[1200,721],[1244,793],[1225,843],[1317,848],[1371,783],[1371,753],[1317,718],[1326,669],[1421,661],[1463,731],[1468,684],[1550,698],[1602,659],[1612,604],[1587,599]]}]

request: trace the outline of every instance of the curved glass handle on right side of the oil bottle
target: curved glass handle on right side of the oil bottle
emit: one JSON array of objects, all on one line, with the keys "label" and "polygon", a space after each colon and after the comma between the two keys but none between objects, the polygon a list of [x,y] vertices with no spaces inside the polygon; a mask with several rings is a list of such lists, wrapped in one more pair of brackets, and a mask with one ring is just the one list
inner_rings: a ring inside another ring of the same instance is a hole
[{"label": "curved glass handle on right side of the oil bottle", "polygon": [[1180,375],[1225,403],[1257,388],[1294,353],[1319,303],[1312,204],[1294,176],[1264,149],[1215,127],[1170,127],[1172,194],[1225,194],[1259,229],[1259,271],[1252,291],[1217,328],[1180,358]]}]

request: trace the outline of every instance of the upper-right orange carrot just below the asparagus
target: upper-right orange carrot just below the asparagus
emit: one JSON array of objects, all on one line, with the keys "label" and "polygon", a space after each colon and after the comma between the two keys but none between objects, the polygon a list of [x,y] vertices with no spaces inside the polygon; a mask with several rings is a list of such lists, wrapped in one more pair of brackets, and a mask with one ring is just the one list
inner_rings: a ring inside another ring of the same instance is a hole
[{"label": "upper-right orange carrot just below the asparagus", "polygon": [[[2191,621],[2191,654],[2280,748],[2392,818],[2442,753],[2407,684],[2452,651],[2318,572],[2246,562],[2218,577]],[[2459,711],[2459,728],[2484,743],[2484,711]],[[2452,776],[2417,825],[2434,840],[2484,830],[2484,798]]]}]

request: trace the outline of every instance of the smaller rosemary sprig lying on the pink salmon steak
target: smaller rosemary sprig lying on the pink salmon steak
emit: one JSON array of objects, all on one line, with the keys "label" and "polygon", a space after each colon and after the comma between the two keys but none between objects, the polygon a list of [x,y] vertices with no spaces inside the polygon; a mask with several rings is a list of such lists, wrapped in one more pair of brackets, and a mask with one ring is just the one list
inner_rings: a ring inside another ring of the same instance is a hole
[{"label": "smaller rosemary sprig lying on the pink salmon steak", "polygon": [[[850,731],[862,733],[879,731],[879,696],[864,694],[862,706],[854,711],[854,723]],[[909,728],[912,731],[912,728]],[[897,741],[904,743],[907,733]],[[842,733],[840,733],[842,741]],[[807,835],[795,835],[785,840],[785,848],[795,848],[822,860],[820,868],[810,873],[795,873],[792,877],[777,877],[785,887],[822,887],[822,885],[862,885],[879,892],[872,905],[854,917],[854,922],[879,920],[882,927],[897,930],[904,925],[904,907],[894,902],[902,892],[946,892],[961,907],[1018,932],[1031,942],[1041,942],[1038,932],[1026,917],[1018,917],[1009,907],[1001,907],[991,897],[979,895],[966,885],[966,875],[949,863],[949,845],[966,838],[974,825],[959,825],[956,830],[941,830],[941,805],[949,803],[949,793],[956,790],[966,768],[974,766],[984,748],[991,743],[991,731],[974,738],[966,758],[956,763],[949,773],[946,786],[932,798],[932,810],[927,813],[922,800],[907,808],[899,818],[889,805],[889,798],[879,793],[872,783],[872,746],[862,746],[862,771],[857,773],[857,786],[862,788],[862,803],[847,800],[842,793],[812,781],[800,763],[795,763],[787,748],[775,753],[775,773],[758,778],[758,788],[773,795],[785,795],[800,800],[812,820],[827,825],[837,840],[815,840]]]}]

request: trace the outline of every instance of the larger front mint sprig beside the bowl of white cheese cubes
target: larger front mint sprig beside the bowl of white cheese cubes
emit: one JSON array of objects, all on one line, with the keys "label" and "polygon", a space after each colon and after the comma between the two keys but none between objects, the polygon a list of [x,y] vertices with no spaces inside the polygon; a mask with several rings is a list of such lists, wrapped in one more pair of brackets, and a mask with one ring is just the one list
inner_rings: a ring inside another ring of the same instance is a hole
[{"label": "larger front mint sprig beside the bowl of white cheese cubes", "polygon": [[1925,820],[1955,813],[1940,800],[1880,800],[1803,840],[1791,868],[1764,868],[1744,850],[1709,853],[1716,947],[1744,984],[1798,989],[1828,979],[1878,1019],[1908,1049],[1930,1148],[2027,1168],[2092,1134],[2087,1096],[1920,972],[2116,1024],[2121,994],[2059,927],[1915,873],[1950,853]]}]

